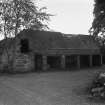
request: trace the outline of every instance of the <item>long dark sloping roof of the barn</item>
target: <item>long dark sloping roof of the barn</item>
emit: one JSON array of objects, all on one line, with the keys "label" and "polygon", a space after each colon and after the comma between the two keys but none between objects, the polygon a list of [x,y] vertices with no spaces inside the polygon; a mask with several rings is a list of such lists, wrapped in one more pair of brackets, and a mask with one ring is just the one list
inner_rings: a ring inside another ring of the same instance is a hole
[{"label": "long dark sloping roof of the barn", "polygon": [[23,30],[18,35],[28,38],[35,52],[52,54],[98,54],[99,47],[89,35],[62,34],[60,32]]}]

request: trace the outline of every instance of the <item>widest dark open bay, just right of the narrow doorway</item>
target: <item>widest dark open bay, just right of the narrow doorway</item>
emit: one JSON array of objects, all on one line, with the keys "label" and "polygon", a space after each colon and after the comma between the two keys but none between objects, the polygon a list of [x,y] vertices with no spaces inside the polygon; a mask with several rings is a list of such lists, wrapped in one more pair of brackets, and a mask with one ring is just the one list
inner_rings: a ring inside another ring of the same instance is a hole
[{"label": "widest dark open bay, just right of the narrow doorway", "polygon": [[47,64],[49,65],[49,68],[59,69],[61,67],[61,57],[47,56]]}]

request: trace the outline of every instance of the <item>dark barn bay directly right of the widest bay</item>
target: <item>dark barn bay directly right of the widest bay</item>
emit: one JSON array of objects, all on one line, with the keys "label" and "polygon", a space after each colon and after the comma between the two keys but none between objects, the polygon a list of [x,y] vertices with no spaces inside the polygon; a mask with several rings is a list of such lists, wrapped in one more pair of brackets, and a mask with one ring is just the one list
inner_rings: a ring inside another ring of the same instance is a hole
[{"label": "dark barn bay directly right of the widest bay", "polygon": [[66,56],[65,59],[65,65],[67,69],[77,67],[77,57],[75,55]]}]

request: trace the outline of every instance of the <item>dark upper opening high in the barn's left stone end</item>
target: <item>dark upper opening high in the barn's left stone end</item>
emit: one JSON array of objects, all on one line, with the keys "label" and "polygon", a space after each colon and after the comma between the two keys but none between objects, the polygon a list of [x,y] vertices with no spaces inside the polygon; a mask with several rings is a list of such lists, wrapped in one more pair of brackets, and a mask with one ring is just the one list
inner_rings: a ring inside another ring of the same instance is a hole
[{"label": "dark upper opening high in the barn's left stone end", "polygon": [[21,47],[20,47],[20,51],[21,53],[28,53],[29,52],[29,41],[28,39],[21,39]]}]

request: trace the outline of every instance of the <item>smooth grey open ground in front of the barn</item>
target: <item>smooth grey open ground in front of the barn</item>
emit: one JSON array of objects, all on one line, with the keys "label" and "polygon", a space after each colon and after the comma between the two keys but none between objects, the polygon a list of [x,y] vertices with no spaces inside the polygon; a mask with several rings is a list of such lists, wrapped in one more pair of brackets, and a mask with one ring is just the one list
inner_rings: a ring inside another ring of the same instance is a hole
[{"label": "smooth grey open ground in front of the barn", "polygon": [[105,105],[85,87],[102,68],[0,76],[0,105]]}]

